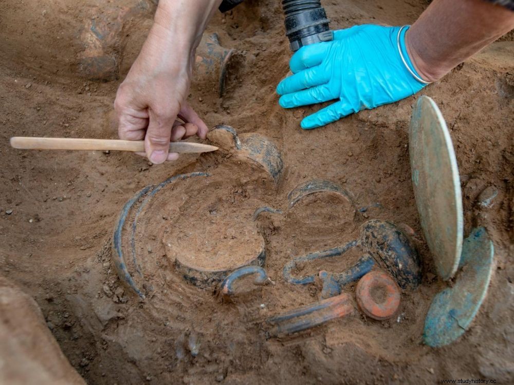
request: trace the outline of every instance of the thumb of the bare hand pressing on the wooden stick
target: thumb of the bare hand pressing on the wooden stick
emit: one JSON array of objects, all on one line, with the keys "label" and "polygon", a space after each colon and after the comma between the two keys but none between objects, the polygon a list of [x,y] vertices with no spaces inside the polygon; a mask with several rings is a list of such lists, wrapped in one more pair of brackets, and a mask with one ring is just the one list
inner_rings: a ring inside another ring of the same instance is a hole
[{"label": "thumb of the bare hand pressing on the wooden stick", "polygon": [[176,116],[159,114],[149,109],[149,118],[148,129],[144,137],[144,150],[152,163],[160,164],[168,158],[171,128]]}]

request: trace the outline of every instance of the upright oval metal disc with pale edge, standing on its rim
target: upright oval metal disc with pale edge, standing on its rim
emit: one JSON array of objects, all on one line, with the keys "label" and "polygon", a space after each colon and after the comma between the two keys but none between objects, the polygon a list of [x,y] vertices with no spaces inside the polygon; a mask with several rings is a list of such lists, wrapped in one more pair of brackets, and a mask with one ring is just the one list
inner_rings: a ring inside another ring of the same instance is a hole
[{"label": "upright oval metal disc with pale edge, standing on its rim", "polygon": [[448,127],[435,102],[421,96],[412,112],[409,153],[416,206],[437,273],[455,274],[461,259],[461,183]]}]

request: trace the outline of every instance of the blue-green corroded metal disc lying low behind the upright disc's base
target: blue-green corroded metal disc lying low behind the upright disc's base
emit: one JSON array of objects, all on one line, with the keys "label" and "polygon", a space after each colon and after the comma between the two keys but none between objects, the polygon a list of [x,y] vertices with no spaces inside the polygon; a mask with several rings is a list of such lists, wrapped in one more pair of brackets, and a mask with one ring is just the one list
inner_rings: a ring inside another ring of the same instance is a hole
[{"label": "blue-green corroded metal disc lying low behind the upright disc's base", "polygon": [[493,267],[494,247],[483,227],[464,240],[462,270],[453,287],[438,293],[425,319],[424,342],[442,347],[469,329],[487,294]]}]

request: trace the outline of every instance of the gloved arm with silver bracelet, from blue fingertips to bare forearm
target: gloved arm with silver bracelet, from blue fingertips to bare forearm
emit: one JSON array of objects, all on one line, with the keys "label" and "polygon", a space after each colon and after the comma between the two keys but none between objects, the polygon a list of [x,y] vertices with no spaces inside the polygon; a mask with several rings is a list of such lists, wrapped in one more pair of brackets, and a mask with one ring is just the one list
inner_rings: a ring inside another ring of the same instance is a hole
[{"label": "gloved arm with silver bracelet, from blue fingertips to bare forearm", "polygon": [[434,0],[407,28],[355,26],[302,47],[291,57],[293,75],[277,87],[280,105],[338,99],[302,120],[310,129],[407,98],[514,28],[514,12],[483,0]]}]

